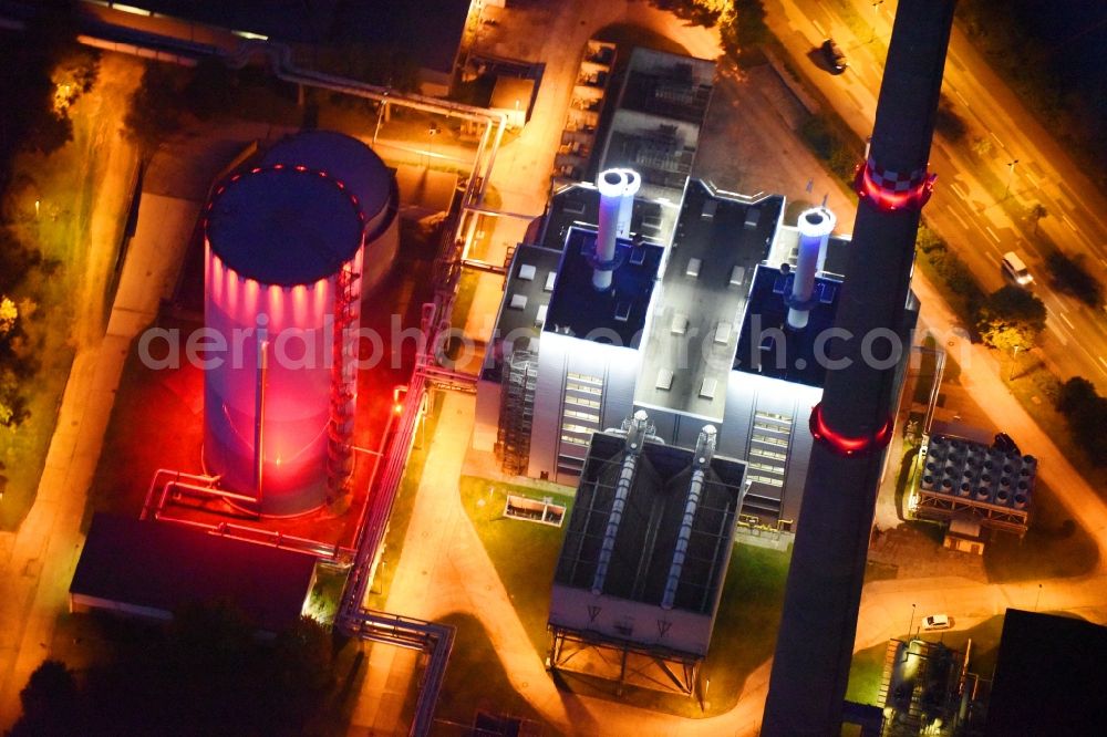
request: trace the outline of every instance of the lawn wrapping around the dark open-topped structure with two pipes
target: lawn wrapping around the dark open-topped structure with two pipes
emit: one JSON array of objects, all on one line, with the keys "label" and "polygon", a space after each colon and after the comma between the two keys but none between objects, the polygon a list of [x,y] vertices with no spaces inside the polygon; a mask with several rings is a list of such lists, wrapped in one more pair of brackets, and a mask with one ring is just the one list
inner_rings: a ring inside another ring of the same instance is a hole
[{"label": "lawn wrapping around the dark open-topped structure with two pipes", "polygon": [[[550,582],[563,531],[507,519],[501,513],[509,490],[534,498],[549,496],[549,492],[474,477],[463,477],[461,489],[465,510],[496,565],[504,588],[515,602],[519,620],[535,651],[545,658],[549,650],[546,620]],[[571,507],[568,498],[556,497],[556,500],[568,502]],[[692,697],[633,686],[620,688],[613,681],[586,675],[561,675],[559,685],[581,695],[611,698],[693,718],[731,709],[746,677],[773,654],[789,560],[790,552],[735,547],[726,572],[711,650],[703,665],[703,676],[712,682],[705,710]],[[617,694],[617,691],[621,693]]]}]

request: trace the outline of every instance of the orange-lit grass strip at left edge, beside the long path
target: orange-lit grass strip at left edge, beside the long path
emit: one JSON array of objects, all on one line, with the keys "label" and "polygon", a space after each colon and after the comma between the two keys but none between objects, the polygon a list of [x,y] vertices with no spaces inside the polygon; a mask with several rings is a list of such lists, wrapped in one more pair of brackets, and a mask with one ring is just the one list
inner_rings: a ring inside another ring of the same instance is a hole
[{"label": "orange-lit grass strip at left edge, beside the long path", "polygon": [[[125,208],[105,209],[99,222],[106,229],[100,240],[90,238],[97,205],[123,194],[105,189],[111,145],[104,142],[118,135],[124,101],[141,70],[130,56],[104,55],[93,89],[69,111],[72,139],[49,156],[23,153],[15,160],[12,181],[27,187],[19,190],[22,196],[8,193],[14,217],[6,227],[41,253],[43,266],[31,269],[11,294],[37,303],[24,328],[39,367],[23,386],[31,416],[17,430],[0,428],[0,461],[7,467],[0,473],[8,477],[0,504],[3,530],[17,529],[34,502],[75,346],[103,331]],[[118,153],[116,166],[134,163],[130,146],[121,145]],[[41,214],[30,209],[39,200]]]}]

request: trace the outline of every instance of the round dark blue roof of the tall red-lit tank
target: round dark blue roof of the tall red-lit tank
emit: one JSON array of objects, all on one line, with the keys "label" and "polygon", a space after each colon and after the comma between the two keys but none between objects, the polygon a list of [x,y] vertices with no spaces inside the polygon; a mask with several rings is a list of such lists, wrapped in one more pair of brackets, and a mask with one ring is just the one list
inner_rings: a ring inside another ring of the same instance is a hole
[{"label": "round dark blue roof of the tall red-lit tank", "polygon": [[323,169],[259,166],[220,184],[204,227],[211,251],[265,284],[310,284],[361,248],[365,216],[353,193]]}]

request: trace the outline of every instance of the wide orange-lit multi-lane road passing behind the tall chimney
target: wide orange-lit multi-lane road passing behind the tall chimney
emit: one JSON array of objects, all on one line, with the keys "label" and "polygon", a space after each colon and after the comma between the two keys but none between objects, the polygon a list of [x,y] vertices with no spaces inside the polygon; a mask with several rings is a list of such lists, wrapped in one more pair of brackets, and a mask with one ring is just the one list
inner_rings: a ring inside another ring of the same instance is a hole
[{"label": "wide orange-lit multi-lane road passing behind the tall chimney", "polygon": [[[868,0],[769,0],[765,8],[796,68],[867,137],[896,2],[876,6],[876,12]],[[859,23],[863,30],[852,31]],[[840,75],[830,74],[815,53],[828,35],[849,59]],[[1107,393],[1105,315],[1049,287],[1046,253],[1033,238],[1030,216],[1035,205],[1043,205],[1048,215],[1036,227],[1068,256],[1083,256],[1089,270],[1107,282],[1107,200],[956,29],[942,90],[969,125],[966,139],[987,141],[991,149],[969,153],[935,135],[931,170],[939,179],[925,209],[928,222],[987,290],[1004,284],[1002,253],[1022,252],[1048,309],[1043,359],[1062,378],[1083,375]]]}]

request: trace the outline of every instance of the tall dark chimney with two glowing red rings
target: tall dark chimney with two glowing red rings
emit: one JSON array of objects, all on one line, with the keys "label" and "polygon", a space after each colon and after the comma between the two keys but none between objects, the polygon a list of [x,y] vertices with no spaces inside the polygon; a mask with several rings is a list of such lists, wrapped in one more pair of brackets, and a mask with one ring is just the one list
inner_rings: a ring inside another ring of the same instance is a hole
[{"label": "tall dark chimney with two glowing red rings", "polygon": [[[762,735],[840,733],[884,448],[898,399],[889,335],[902,339],[953,0],[900,0],[830,344],[816,443],[788,571]],[[871,342],[871,338],[884,339]],[[865,339],[868,338],[869,341]],[[884,355],[884,352],[888,355]],[[841,367],[845,365],[845,367]]]}]

